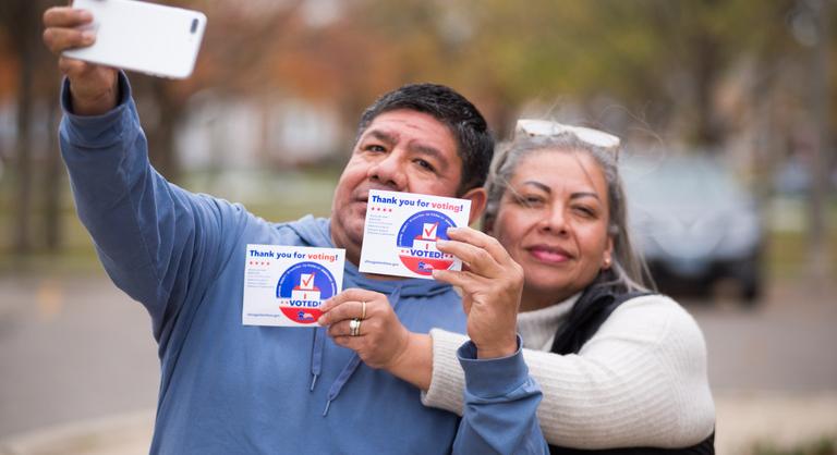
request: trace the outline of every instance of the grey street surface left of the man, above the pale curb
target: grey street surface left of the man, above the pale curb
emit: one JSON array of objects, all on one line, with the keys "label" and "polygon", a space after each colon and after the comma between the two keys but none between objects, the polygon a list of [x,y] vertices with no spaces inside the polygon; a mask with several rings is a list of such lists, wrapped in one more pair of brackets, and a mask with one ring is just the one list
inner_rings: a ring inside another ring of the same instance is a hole
[{"label": "grey street surface left of the man, above the pale curb", "polygon": [[154,408],[145,309],[104,278],[0,279],[0,438]]}]

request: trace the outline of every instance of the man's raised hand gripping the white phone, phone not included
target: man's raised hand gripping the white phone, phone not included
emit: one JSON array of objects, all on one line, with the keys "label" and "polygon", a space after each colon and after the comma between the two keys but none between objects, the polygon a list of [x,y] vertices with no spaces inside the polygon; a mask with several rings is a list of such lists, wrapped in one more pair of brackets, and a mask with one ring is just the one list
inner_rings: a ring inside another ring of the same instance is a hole
[{"label": "man's raised hand gripping the white phone, phone not included", "polygon": [[70,79],[73,112],[78,115],[104,114],[117,106],[119,96],[116,69],[62,56],[68,49],[96,41],[93,30],[83,29],[90,23],[89,11],[71,7],[54,7],[44,13],[44,42],[59,56],[58,66]]}]

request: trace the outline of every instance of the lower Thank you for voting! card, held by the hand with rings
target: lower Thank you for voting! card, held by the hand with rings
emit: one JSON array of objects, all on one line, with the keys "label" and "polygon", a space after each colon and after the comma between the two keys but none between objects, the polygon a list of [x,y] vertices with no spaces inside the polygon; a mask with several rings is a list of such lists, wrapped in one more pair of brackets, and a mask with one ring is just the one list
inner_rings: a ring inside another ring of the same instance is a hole
[{"label": "lower Thank you for voting! card, held by the hand with rings", "polygon": [[247,245],[245,325],[316,327],[323,302],[342,287],[345,250]]}]

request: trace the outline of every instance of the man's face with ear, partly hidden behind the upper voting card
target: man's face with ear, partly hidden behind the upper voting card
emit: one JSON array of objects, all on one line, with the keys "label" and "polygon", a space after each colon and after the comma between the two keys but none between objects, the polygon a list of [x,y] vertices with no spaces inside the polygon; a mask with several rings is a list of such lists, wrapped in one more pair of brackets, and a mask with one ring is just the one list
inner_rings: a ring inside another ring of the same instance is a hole
[{"label": "man's face with ear, partly hidden behind the upper voting card", "polygon": [[[369,189],[456,197],[461,175],[456,139],[442,123],[408,109],[385,112],[363,132],[337,183],[331,239],[359,263]],[[482,196],[482,188],[462,197],[472,194]]]}]

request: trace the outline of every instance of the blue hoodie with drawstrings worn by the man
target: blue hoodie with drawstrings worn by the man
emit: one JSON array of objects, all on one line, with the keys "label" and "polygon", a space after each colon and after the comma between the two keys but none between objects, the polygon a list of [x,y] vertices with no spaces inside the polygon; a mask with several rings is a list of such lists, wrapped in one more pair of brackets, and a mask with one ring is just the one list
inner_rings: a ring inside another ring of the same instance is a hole
[{"label": "blue hoodie with drawstrings worn by the man", "polygon": [[[85,118],[69,113],[64,87],[61,150],[105,269],[151,317],[161,362],[151,453],[441,454],[452,450],[458,429],[457,452],[505,452],[541,436],[536,420],[534,429],[514,430],[520,434],[500,433],[499,443],[490,440],[505,422],[471,422],[509,391],[518,391],[511,403],[529,403],[524,414],[534,415],[539,391],[521,358],[505,360],[511,383],[484,391],[489,399],[466,411],[460,428],[456,415],[424,407],[414,386],[366,367],[325,329],[243,325],[246,245],[333,247],[329,221],[271,223],[166,182],[148,163],[124,75],[120,88],[114,110]],[[460,298],[448,285],[371,280],[347,261],[349,287],[388,295],[411,331],[464,331]]]}]

